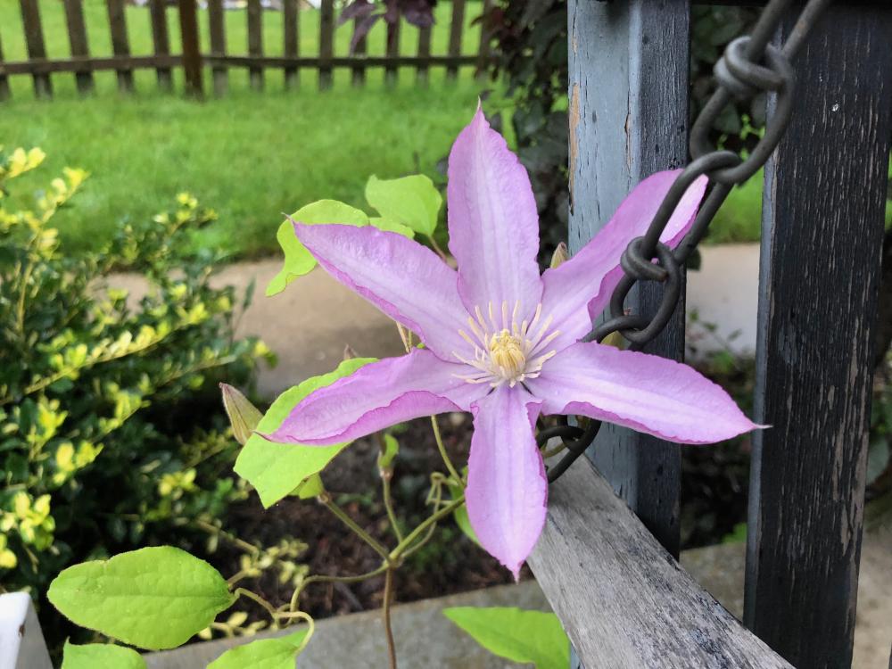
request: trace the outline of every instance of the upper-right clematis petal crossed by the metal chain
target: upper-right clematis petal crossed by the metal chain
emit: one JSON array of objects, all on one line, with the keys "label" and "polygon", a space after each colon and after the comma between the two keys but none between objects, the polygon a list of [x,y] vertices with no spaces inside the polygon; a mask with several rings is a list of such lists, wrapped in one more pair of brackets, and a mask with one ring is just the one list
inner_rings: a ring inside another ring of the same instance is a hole
[{"label": "upper-right clematis petal crossed by the metal chain", "polygon": [[[560,335],[554,346],[560,350],[588,335],[592,319],[603,311],[610,294],[623,277],[619,266],[626,246],[647,232],[660,202],[681,169],[657,172],[635,186],[598,235],[558,268],[542,275],[542,312],[554,318]],[[660,240],[674,248],[697,214],[706,191],[706,177],[690,185],[675,208]]]}]

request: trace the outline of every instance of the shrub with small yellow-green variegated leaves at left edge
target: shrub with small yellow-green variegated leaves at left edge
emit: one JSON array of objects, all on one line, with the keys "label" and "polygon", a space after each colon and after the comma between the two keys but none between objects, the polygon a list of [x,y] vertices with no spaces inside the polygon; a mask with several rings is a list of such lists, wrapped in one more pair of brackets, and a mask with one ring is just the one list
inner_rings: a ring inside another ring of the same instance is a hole
[{"label": "shrub with small yellow-green variegated leaves at left edge", "polygon": [[[0,580],[35,592],[85,558],[161,541],[213,549],[245,495],[217,382],[249,383],[268,355],[234,339],[234,291],[209,283],[219,258],[186,251],[213,211],[180,194],[72,257],[51,223],[86,172],[12,205],[8,189],[43,158],[0,150]],[[148,292],[129,298],[112,269],[139,272]]]}]

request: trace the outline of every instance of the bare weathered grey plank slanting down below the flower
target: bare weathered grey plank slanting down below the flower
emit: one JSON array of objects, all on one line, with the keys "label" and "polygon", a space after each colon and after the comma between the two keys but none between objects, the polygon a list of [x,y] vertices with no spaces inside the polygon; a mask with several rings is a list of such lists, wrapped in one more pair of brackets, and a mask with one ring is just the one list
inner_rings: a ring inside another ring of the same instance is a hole
[{"label": "bare weathered grey plank slanting down below the flower", "polygon": [[790,669],[678,565],[586,458],[550,486],[528,562],[588,667]]}]

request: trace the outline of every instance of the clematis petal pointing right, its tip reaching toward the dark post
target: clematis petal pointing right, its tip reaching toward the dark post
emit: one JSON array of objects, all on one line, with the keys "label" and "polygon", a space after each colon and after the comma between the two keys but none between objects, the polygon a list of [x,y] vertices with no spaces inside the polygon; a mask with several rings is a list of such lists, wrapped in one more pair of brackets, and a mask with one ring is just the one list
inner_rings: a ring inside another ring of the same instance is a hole
[{"label": "clematis petal pointing right, its tip reaching toward the dark post", "polygon": [[544,413],[606,420],[670,442],[721,442],[759,427],[693,368],[599,343],[559,352],[526,384]]}]

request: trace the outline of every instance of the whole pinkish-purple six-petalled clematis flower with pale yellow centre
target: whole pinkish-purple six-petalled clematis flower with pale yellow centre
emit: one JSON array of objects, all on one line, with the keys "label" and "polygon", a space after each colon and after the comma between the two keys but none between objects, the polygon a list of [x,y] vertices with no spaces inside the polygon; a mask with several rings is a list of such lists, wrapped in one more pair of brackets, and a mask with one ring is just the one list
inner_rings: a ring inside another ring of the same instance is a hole
[{"label": "whole pinkish-purple six-petalled clematis flower with pale yellow centre", "polygon": [[[675,176],[645,179],[582,251],[540,276],[529,178],[478,110],[449,158],[449,248],[458,271],[375,227],[295,222],[323,268],[415,332],[425,349],[313,392],[268,439],[325,445],[470,411],[468,516],[483,548],[516,577],[545,521],[548,482],[533,434],[541,414],[588,416],[681,443],[753,429],[727,393],[692,368],[579,342],[623,275],[626,245],[644,234]],[[681,241],[705,188],[705,178],[690,186],[665,244]]]}]

